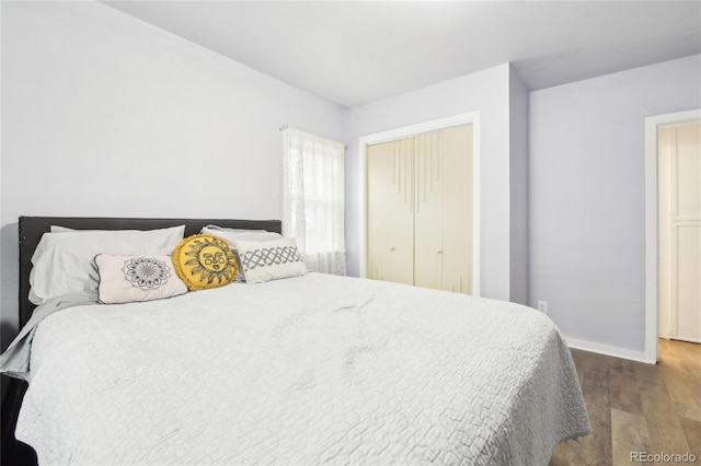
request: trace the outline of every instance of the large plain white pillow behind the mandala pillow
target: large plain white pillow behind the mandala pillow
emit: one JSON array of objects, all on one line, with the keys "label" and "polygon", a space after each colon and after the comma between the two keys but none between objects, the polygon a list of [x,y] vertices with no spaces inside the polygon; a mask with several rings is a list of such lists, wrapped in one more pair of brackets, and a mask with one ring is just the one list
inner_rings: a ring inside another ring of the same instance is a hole
[{"label": "large plain white pillow behind the mandala pillow", "polygon": [[183,241],[185,225],[162,230],[104,230],[44,233],[30,273],[30,301],[97,290],[97,254],[168,256]]}]

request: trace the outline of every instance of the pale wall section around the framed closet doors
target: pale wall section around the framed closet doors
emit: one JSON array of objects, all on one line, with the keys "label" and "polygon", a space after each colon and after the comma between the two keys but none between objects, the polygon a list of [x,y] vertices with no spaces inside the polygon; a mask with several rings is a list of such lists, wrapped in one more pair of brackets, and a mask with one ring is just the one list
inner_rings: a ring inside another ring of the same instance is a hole
[{"label": "pale wall section around the framed closet doors", "polygon": [[509,299],[509,66],[507,63],[386,98],[346,115],[346,246],[358,275],[358,138],[453,115],[480,112],[482,295]]}]

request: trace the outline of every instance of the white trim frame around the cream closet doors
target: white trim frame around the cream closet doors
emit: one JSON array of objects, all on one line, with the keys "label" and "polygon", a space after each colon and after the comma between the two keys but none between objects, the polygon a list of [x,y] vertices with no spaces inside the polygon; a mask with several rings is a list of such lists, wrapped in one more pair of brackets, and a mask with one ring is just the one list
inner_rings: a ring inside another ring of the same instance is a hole
[{"label": "white trim frame around the cream closet doors", "polygon": [[398,139],[411,138],[426,132],[439,131],[456,126],[472,125],[472,295],[480,295],[480,112],[455,115],[446,118],[424,121],[416,125],[390,129],[361,136],[358,140],[359,161],[359,276],[367,278],[368,273],[368,205],[367,205],[367,162],[368,145]]}]

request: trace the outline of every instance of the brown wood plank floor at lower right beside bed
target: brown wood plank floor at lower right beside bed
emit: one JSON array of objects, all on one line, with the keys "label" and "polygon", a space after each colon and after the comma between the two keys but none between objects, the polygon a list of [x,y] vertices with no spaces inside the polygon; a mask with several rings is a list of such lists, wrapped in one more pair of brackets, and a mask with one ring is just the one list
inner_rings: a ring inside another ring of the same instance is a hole
[{"label": "brown wood plank floor at lower right beside bed", "polygon": [[560,444],[551,466],[636,464],[631,452],[691,452],[701,464],[701,345],[660,339],[656,365],[578,350],[572,357],[591,434]]}]

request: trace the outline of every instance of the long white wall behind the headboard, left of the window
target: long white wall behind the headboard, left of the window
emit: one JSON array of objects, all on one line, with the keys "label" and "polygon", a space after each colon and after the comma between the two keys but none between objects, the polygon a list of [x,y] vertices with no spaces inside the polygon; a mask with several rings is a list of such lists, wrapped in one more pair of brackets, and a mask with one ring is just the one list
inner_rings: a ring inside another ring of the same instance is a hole
[{"label": "long white wall behind the headboard, left of the window", "polygon": [[2,2],[2,347],[19,215],[280,219],[287,124],[342,108],[96,2]]}]

